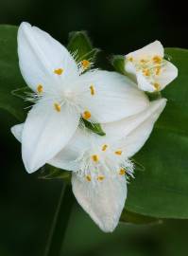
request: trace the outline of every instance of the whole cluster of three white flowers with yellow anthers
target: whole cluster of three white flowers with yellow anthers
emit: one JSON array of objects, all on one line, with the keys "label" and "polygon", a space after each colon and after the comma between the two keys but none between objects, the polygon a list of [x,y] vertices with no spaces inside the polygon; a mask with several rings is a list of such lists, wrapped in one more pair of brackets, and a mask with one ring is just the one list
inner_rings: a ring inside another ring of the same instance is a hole
[{"label": "whole cluster of three white flowers with yellow anthers", "polygon": [[[149,137],[166,100],[149,101],[174,80],[177,68],[163,59],[156,41],[125,57],[128,76],[77,64],[49,34],[22,23],[18,30],[21,73],[33,91],[25,123],[11,128],[22,143],[28,173],[49,163],[72,171],[78,203],[100,229],[115,229],[127,197],[130,157]],[[106,136],[84,127],[81,119],[100,123]]]}]

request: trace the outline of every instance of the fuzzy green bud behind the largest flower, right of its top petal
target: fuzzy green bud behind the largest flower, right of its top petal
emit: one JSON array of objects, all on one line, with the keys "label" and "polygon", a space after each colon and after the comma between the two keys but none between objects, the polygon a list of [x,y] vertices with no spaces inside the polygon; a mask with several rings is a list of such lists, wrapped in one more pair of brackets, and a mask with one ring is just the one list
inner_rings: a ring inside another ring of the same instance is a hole
[{"label": "fuzzy green bud behind the largest flower, right of its top petal", "polygon": [[77,63],[82,60],[94,62],[99,49],[93,48],[92,42],[85,31],[74,31],[69,34],[68,50],[76,54]]}]

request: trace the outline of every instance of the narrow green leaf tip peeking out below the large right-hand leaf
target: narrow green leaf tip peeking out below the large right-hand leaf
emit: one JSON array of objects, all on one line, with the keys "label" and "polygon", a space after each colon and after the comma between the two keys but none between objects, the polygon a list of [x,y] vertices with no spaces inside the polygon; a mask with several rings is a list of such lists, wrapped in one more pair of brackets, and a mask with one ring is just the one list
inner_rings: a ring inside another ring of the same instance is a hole
[{"label": "narrow green leaf tip peeking out below the large right-hand leaf", "polygon": [[120,221],[126,222],[126,223],[132,223],[132,224],[140,224],[140,225],[162,223],[162,220],[141,215],[135,212],[130,212],[128,210],[123,210]]}]

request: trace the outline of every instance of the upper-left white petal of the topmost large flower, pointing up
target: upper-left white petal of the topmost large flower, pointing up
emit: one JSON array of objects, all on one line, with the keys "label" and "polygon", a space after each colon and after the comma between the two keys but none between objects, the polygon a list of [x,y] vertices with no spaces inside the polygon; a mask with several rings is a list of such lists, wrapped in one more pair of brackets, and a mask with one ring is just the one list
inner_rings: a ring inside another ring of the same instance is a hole
[{"label": "upper-left white petal of the topmost large flower, pointing up", "polygon": [[[49,90],[64,78],[78,75],[77,64],[67,49],[48,33],[25,22],[18,30],[18,55],[22,75],[34,91],[39,84]],[[60,76],[54,73],[59,68],[63,69]]]}]

